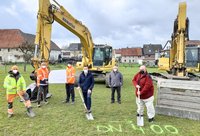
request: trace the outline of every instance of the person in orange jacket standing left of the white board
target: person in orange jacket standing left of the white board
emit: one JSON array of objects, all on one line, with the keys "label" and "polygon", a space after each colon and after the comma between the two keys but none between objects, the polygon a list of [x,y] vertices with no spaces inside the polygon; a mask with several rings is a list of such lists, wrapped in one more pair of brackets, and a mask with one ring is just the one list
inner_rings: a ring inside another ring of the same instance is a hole
[{"label": "person in orange jacket standing left of the white board", "polygon": [[47,68],[47,64],[45,62],[42,62],[40,68],[37,70],[38,107],[40,107],[41,96],[43,96],[43,101],[45,102],[45,104],[48,103],[46,100],[46,95],[48,90],[48,77],[49,77],[49,70]]}]

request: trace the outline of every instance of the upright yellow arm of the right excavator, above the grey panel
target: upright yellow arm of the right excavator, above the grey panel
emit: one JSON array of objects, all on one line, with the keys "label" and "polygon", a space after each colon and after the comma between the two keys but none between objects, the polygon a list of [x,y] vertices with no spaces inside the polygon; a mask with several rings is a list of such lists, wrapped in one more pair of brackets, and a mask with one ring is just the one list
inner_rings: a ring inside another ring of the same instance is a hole
[{"label": "upright yellow arm of the right excavator, above the grey panel", "polygon": [[179,4],[179,11],[174,21],[169,66],[173,75],[185,76],[185,45],[188,37],[189,19],[186,17],[186,3]]}]

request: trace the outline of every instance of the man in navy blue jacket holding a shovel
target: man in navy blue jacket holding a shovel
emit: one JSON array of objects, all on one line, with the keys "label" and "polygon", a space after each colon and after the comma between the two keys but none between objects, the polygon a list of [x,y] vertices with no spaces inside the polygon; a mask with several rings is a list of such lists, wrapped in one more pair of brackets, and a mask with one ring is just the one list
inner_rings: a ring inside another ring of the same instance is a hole
[{"label": "man in navy blue jacket holding a shovel", "polygon": [[90,71],[88,71],[88,66],[84,66],[83,72],[79,76],[78,88],[81,88],[84,102],[87,107],[87,112],[91,113],[91,94],[94,87],[94,77]]}]

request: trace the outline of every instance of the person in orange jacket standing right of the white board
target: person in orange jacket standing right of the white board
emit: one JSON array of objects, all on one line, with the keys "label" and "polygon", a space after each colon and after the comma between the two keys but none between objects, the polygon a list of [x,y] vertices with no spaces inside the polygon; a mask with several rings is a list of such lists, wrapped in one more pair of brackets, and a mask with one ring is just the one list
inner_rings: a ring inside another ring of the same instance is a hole
[{"label": "person in orange jacket standing right of the white board", "polygon": [[75,93],[74,93],[74,83],[75,83],[75,69],[72,66],[71,62],[68,62],[67,68],[66,68],[66,103],[69,103],[70,95],[72,99],[72,104],[74,104],[75,101]]}]

